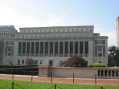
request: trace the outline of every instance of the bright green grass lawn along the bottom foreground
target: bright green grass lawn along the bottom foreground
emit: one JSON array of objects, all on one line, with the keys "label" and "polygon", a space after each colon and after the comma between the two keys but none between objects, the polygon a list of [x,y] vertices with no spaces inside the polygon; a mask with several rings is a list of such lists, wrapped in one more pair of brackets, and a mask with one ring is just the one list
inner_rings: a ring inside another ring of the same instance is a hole
[{"label": "bright green grass lawn along the bottom foreground", "polygon": [[[11,80],[0,80],[0,89],[101,89],[95,85],[78,84],[50,84],[50,83],[31,83],[27,81],[14,81],[12,88]],[[102,89],[119,89],[119,86],[103,86]]]}]

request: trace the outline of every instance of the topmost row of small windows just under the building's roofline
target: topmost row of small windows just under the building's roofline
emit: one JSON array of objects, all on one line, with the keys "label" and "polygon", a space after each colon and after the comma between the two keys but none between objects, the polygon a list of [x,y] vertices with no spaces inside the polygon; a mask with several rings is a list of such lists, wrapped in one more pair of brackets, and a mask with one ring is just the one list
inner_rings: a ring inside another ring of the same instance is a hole
[{"label": "topmost row of small windows just under the building's roofline", "polygon": [[90,32],[93,33],[92,27],[80,27],[80,28],[21,28],[20,32],[23,33],[47,33],[47,32]]}]

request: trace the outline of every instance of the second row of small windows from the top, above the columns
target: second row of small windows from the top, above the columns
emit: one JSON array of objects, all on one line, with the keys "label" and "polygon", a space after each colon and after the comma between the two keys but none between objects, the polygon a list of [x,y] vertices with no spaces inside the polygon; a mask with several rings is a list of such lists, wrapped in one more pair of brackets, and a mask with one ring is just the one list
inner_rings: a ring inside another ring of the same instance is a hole
[{"label": "second row of small windows from the top, above the columns", "polygon": [[29,34],[29,33],[18,33],[15,35],[15,39],[56,39],[56,38],[92,38],[93,37],[93,33],[33,33],[33,34]]}]

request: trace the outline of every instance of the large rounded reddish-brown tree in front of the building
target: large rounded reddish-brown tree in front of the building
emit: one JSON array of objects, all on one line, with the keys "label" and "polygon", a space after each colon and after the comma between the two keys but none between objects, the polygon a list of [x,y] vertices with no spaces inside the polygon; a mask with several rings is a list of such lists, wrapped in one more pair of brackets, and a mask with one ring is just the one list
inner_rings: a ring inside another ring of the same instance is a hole
[{"label": "large rounded reddish-brown tree in front of the building", "polygon": [[64,61],[63,65],[65,67],[86,67],[87,61],[79,56],[73,56]]}]

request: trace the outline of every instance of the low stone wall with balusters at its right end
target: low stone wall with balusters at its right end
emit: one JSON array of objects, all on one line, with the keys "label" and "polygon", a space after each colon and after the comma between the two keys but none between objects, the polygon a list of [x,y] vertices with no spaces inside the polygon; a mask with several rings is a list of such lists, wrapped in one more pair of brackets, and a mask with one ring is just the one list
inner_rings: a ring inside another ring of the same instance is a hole
[{"label": "low stone wall with balusters at its right end", "polygon": [[75,78],[117,78],[119,68],[39,67],[39,76]]}]

